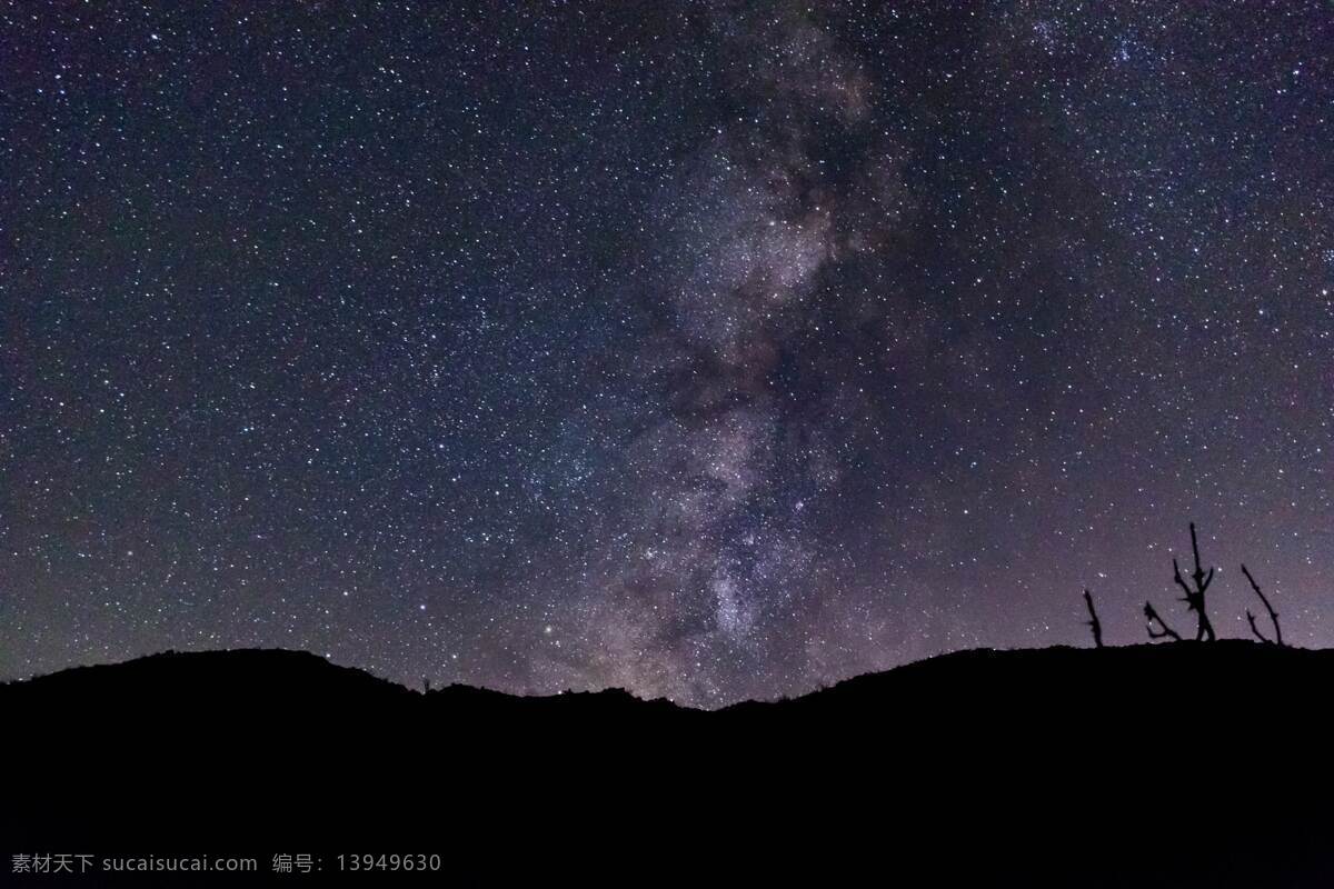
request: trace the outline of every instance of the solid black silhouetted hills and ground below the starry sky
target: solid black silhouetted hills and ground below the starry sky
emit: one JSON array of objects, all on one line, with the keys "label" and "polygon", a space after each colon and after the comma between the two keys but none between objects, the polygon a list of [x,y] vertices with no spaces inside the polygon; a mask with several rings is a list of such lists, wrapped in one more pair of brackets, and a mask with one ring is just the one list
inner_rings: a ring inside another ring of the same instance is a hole
[{"label": "solid black silhouetted hills and ground below the starry sky", "polygon": [[1334,886],[1331,704],[1334,650],[1246,641],[960,652],[712,713],[168,653],[0,686],[0,885],[91,853],[259,873],[19,885]]}]

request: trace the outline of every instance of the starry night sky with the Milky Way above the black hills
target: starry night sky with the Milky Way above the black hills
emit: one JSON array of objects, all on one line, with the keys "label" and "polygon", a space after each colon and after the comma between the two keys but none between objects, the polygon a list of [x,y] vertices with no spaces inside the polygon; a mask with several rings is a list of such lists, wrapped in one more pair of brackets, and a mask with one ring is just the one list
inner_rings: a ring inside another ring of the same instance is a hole
[{"label": "starry night sky with the Milky Way above the black hills", "polygon": [[0,678],[1334,645],[1334,5],[0,5]]}]

